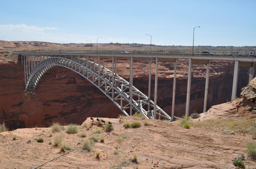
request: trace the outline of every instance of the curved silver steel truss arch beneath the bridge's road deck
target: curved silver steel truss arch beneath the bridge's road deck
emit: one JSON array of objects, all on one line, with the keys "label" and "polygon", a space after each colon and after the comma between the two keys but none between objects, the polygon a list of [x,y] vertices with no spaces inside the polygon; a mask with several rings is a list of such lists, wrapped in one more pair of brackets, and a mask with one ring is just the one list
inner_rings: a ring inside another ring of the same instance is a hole
[{"label": "curved silver steel truss arch beneath the bridge's road deck", "polygon": [[[126,116],[129,116],[127,112],[130,110],[130,116],[139,112],[147,118],[154,119],[154,109],[152,110],[152,108],[154,108],[154,102],[148,96],[131,85],[132,83],[130,84],[128,81],[118,76],[114,71],[108,70],[104,66],[104,62],[103,65],[100,66],[90,61],[88,58],[79,58],[78,60],[77,58],[50,57],[42,61],[40,58],[40,62],[37,62],[29,73],[27,80],[25,80],[25,93],[34,93],[41,77],[49,69],[56,66],[66,67],[83,76],[114,102]],[[114,64],[112,70],[114,70]],[[171,117],[157,105],[156,114],[161,118],[172,120]]]}]

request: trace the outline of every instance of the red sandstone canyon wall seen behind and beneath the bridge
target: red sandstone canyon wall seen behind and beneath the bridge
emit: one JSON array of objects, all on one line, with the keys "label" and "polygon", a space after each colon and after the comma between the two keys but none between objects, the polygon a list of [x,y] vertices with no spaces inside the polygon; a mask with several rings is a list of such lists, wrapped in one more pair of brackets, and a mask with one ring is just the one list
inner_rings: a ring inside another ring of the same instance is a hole
[{"label": "red sandstone canyon wall seen behind and beneath the bridge", "polygon": [[[129,61],[118,60],[117,74],[129,80]],[[111,61],[105,62],[111,69]],[[208,108],[231,98],[233,62],[211,61]],[[159,62],[157,104],[171,114],[174,64]],[[154,98],[152,62],[151,98]],[[35,95],[24,95],[24,67],[20,60],[0,63],[0,122],[10,129],[44,127],[52,122],[81,124],[87,117],[116,118],[122,112],[98,88],[75,72],[54,67],[39,81]],[[134,61],[133,85],[148,94],[148,62]],[[202,112],[206,66],[193,64],[190,113]],[[188,61],[177,64],[175,116],[185,114]],[[248,84],[248,68],[239,70],[237,94]]]}]

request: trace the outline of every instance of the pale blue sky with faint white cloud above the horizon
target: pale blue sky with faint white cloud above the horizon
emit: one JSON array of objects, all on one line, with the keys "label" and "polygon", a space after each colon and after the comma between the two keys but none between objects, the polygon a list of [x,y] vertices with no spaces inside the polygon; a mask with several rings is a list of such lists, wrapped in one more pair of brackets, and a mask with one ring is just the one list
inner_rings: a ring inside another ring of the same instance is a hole
[{"label": "pale blue sky with faint white cloud above the horizon", "polygon": [[256,0],[4,0],[0,40],[256,46]]}]

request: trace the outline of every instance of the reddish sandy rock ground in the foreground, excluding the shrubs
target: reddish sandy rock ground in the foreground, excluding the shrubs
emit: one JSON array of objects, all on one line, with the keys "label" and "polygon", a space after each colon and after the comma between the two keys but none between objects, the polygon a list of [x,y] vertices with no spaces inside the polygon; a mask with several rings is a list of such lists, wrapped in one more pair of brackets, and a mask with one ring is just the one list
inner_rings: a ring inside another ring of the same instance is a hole
[{"label": "reddish sandy rock ground in the foreground, excluding the shrubs", "polygon": [[[124,129],[125,120],[140,121],[142,126],[137,129]],[[184,129],[174,123],[160,120],[150,120],[153,125],[144,126],[139,117],[124,117],[107,119],[113,122],[114,130],[107,135],[104,143],[95,143],[92,151],[82,151],[81,148],[53,160],[41,168],[235,168],[232,160],[246,152],[245,145],[252,141],[250,135],[224,135],[219,129],[204,128]],[[90,123],[87,120],[85,123]],[[84,126],[82,124],[82,126]],[[82,127],[80,130],[92,136],[90,130]],[[38,134],[45,130],[41,136]],[[60,148],[49,145],[53,137],[63,136],[62,142],[70,142],[74,147],[80,146],[83,138],[65,131],[53,133],[51,128],[17,129],[0,133],[0,168],[33,168],[62,154]],[[12,135],[18,135],[12,140]],[[102,132],[101,135],[105,135]],[[117,141],[118,135],[124,135],[123,141]],[[36,142],[43,138],[44,143]],[[31,140],[31,143],[27,143]],[[118,145],[116,149],[115,146]],[[134,148],[133,148],[133,145]],[[95,151],[100,150],[100,159],[96,159]],[[118,151],[118,154],[114,154]],[[138,164],[131,161],[134,153],[138,153]],[[256,167],[256,162],[245,153],[246,166]]]}]

